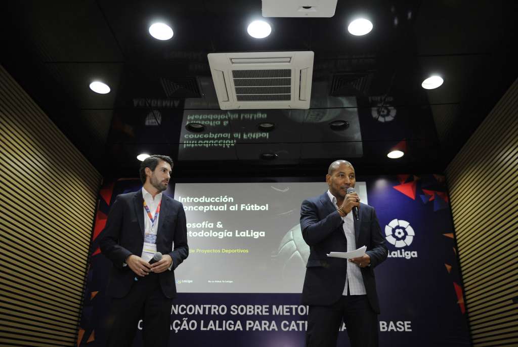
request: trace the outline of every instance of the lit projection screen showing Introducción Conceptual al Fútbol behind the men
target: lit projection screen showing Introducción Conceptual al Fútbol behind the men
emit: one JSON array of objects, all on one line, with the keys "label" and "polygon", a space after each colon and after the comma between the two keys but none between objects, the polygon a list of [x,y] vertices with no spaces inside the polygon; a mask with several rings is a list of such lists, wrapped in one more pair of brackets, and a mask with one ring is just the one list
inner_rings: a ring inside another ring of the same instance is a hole
[{"label": "lit projection screen showing Introducci\u00f3n Conceptual al F\u00fatbol behind the men", "polygon": [[[176,184],[190,249],[175,270],[178,291],[301,293],[309,246],[300,205],[327,189],[325,182]],[[367,204],[365,182],[356,190]]]}]

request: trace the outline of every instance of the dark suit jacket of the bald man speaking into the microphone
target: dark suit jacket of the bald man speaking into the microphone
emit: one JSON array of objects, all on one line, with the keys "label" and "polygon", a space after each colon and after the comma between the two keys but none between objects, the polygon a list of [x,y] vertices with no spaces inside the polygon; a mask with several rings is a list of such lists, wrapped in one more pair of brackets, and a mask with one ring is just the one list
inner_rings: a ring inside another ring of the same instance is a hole
[{"label": "dark suit jacket of the bald man speaking into the microphone", "polygon": [[[351,212],[352,213],[352,212]],[[329,252],[347,252],[343,221],[327,192],[304,200],[300,209],[300,227],[310,247],[302,299],[305,305],[332,305],[338,301],[346,284],[347,259],[331,258]],[[360,204],[359,221],[354,220],[356,248],[367,246],[369,267],[361,268],[367,298],[380,313],[374,268],[388,254],[385,239],[374,208]]]}]

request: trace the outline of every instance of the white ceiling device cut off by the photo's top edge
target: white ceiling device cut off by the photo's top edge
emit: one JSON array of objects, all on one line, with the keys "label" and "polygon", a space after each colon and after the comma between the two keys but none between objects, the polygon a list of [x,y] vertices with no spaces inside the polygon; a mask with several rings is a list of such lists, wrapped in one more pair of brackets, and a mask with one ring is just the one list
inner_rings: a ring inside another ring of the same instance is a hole
[{"label": "white ceiling device cut off by the photo's top edge", "polygon": [[338,0],[263,0],[263,17],[333,17]]}]

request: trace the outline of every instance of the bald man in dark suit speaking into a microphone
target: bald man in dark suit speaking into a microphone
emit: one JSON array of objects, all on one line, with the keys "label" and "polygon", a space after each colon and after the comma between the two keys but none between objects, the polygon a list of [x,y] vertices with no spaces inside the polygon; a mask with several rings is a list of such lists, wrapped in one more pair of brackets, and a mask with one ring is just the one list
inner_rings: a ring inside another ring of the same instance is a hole
[{"label": "bald man in dark suit speaking into a microphone", "polygon": [[[338,160],[326,175],[329,190],[304,200],[300,227],[310,254],[306,266],[303,303],[309,306],[306,345],[336,346],[338,329],[346,324],[352,347],[378,346],[380,307],[373,269],[387,257],[376,212],[360,203],[351,163]],[[359,209],[359,221],[353,218]],[[348,252],[367,246],[365,254],[346,259],[329,252]]]}]

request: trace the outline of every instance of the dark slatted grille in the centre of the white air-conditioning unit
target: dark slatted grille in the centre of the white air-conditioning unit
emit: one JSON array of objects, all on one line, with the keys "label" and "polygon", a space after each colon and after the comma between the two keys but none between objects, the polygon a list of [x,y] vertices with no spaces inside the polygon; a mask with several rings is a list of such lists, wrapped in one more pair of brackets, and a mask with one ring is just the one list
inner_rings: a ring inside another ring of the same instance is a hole
[{"label": "dark slatted grille in the centre of the white air-conditioning unit", "polygon": [[291,69],[232,70],[238,101],[283,101],[291,98]]}]

